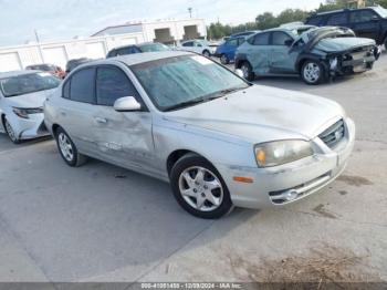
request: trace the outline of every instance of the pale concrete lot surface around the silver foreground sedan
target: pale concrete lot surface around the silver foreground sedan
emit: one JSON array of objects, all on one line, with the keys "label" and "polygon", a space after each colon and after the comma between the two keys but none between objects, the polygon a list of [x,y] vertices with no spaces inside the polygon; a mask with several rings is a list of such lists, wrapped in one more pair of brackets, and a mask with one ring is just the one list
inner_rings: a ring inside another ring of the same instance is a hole
[{"label": "pale concrete lot surface around the silver foreground sedan", "polygon": [[257,80],[339,102],[356,147],[322,193],[216,221],[186,214],[167,184],[97,160],[70,168],[51,139],[0,135],[0,281],[387,280],[386,80],[387,54],[320,86]]}]

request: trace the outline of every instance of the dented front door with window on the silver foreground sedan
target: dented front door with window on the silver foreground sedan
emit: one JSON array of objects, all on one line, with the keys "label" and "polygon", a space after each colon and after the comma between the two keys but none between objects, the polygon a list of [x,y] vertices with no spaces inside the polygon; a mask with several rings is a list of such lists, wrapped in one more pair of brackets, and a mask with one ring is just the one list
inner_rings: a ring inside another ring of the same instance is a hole
[{"label": "dented front door with window on the silver foreground sedan", "polygon": [[[114,102],[124,96],[134,96],[143,104],[140,112],[116,112]],[[96,71],[97,105],[94,139],[98,155],[104,159],[140,170],[154,169],[154,143],[151,115],[123,69],[101,65]]]}]

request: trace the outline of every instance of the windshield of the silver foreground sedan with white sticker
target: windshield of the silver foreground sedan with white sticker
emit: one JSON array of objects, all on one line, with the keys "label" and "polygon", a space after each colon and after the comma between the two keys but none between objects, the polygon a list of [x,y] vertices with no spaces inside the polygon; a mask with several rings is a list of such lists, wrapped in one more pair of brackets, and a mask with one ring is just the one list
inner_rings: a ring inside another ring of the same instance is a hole
[{"label": "windshield of the silver foreground sedan with white sticker", "polygon": [[200,55],[150,61],[130,69],[160,111],[210,101],[249,86],[227,69]]}]

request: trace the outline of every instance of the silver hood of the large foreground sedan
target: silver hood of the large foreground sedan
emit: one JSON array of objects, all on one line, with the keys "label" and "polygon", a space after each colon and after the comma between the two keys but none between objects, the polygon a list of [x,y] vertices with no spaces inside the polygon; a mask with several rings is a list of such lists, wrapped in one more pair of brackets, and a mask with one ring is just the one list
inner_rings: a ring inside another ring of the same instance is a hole
[{"label": "silver hood of the large foreground sedan", "polygon": [[221,99],[168,112],[165,118],[251,142],[268,142],[312,139],[343,115],[343,108],[333,101],[253,85]]}]

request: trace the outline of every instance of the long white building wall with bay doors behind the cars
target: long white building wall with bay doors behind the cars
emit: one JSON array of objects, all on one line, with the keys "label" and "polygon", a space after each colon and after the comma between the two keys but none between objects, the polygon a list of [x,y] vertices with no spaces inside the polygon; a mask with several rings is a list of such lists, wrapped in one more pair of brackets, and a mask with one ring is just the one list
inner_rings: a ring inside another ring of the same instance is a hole
[{"label": "long white building wall with bay doors behind the cars", "polygon": [[202,19],[145,22],[142,23],[140,32],[0,48],[0,72],[22,70],[27,65],[40,63],[52,63],[64,69],[72,59],[103,59],[114,48],[151,42],[156,38],[156,29],[169,29],[171,38],[179,42],[184,39],[186,25],[196,25],[200,37],[207,37]]}]

